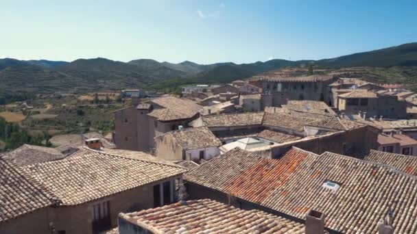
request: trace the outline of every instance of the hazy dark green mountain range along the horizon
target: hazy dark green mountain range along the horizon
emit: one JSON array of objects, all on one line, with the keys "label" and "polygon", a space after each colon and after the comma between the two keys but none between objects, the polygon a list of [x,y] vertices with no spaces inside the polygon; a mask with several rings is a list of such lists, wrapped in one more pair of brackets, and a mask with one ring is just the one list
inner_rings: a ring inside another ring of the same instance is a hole
[{"label": "hazy dark green mountain range along the horizon", "polygon": [[226,83],[278,68],[308,64],[326,68],[414,67],[417,66],[417,43],[326,60],[269,60],[250,64],[226,62],[204,65],[189,61],[174,64],[148,59],[118,62],[101,57],[73,62],[5,58],[0,59],[0,94],[10,91],[92,92],[152,88],[166,81],[180,84]]}]

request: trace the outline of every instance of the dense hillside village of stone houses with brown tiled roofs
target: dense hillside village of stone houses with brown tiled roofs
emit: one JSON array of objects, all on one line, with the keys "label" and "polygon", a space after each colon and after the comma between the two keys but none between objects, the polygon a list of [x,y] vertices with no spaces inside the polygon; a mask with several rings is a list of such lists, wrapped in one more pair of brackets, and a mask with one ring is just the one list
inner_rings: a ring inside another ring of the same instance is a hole
[{"label": "dense hillside village of stone houses with brown tiled roofs", "polygon": [[119,95],[110,134],[1,155],[0,233],[417,233],[406,87],[273,70]]}]

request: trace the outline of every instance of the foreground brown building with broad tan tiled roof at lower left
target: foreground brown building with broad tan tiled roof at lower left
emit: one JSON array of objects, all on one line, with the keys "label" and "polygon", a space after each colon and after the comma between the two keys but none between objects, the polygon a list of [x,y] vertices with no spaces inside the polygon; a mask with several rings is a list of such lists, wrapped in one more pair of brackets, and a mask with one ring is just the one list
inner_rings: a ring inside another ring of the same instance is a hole
[{"label": "foreground brown building with broad tan tiled roof at lower left", "polygon": [[[175,180],[187,171],[141,152],[91,148],[20,169],[27,180],[0,204],[8,210],[1,216],[14,218],[0,221],[0,233],[99,233],[117,226],[120,212],[173,203]],[[1,194],[12,192],[8,177]]]}]

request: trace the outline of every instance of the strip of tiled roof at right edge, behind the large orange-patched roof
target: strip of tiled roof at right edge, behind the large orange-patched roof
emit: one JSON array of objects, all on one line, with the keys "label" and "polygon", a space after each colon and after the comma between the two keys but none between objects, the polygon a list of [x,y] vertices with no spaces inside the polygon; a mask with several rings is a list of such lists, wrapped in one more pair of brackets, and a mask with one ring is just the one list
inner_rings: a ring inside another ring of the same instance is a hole
[{"label": "strip of tiled roof at right edge, behind the large orange-patched roof", "polygon": [[374,161],[379,164],[392,166],[397,170],[417,176],[417,157],[409,155],[398,155],[396,153],[387,153],[382,151],[348,151],[348,155],[366,161]]}]

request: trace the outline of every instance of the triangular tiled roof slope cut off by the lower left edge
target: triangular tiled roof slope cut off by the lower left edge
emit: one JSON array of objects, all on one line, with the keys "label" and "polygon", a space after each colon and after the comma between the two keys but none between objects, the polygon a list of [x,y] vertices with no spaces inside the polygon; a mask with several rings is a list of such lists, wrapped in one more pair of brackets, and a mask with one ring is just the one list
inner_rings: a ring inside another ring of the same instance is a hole
[{"label": "triangular tiled roof slope cut off by the lower left edge", "polygon": [[36,182],[0,158],[0,222],[52,204],[51,197]]}]

